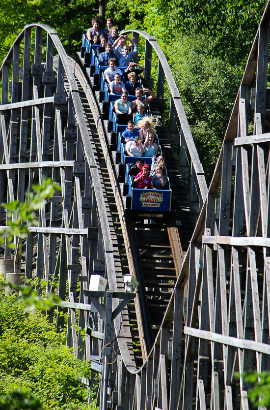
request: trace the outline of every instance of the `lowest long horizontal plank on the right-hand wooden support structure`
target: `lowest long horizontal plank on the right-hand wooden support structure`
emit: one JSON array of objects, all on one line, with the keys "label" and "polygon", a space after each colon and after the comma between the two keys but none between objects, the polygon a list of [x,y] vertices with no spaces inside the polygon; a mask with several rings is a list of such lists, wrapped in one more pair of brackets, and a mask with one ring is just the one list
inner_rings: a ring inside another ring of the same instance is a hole
[{"label": "lowest long horizontal plank on the right-hand wooden support structure", "polygon": [[253,340],[245,340],[231,336],[223,336],[220,335],[220,333],[213,333],[207,330],[199,330],[188,326],[184,327],[184,333],[189,336],[209,340],[211,342],[222,343],[227,346],[234,346],[240,349],[250,349],[261,353],[270,354],[270,345],[266,345],[265,343],[258,343]]}]

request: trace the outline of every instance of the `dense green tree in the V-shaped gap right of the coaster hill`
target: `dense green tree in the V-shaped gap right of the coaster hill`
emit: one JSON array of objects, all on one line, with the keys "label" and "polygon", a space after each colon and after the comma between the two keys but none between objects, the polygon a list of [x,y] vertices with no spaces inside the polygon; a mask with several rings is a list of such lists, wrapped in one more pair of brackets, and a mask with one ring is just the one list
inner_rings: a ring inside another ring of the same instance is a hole
[{"label": "dense green tree in the V-shaped gap right of the coaster hill", "polygon": [[166,49],[195,146],[209,183],[240,82],[240,73],[209,56],[205,36],[179,36]]}]

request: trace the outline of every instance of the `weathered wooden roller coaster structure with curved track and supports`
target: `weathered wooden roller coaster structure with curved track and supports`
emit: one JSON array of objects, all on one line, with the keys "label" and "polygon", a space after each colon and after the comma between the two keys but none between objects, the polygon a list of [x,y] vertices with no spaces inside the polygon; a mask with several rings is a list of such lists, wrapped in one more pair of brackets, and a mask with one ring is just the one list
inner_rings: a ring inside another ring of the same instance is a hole
[{"label": "weathered wooden roller coaster structure with curved track and supports", "polygon": [[[60,187],[22,252],[16,239],[4,261],[26,283],[44,277],[62,299],[57,329],[68,310],[67,345],[91,362],[89,390],[100,375],[103,410],[247,410],[249,385],[235,372],[270,370],[269,26],[268,3],[209,187],[162,49],[133,31],[148,89],[158,58],[150,110],[170,182],[164,208],[135,209],[120,120],[85,37],[75,61],[54,30],[32,24],[2,63],[0,203],[23,202],[43,176]],[[105,291],[89,290],[92,275],[108,281]],[[135,293],[124,291],[127,275]]]}]

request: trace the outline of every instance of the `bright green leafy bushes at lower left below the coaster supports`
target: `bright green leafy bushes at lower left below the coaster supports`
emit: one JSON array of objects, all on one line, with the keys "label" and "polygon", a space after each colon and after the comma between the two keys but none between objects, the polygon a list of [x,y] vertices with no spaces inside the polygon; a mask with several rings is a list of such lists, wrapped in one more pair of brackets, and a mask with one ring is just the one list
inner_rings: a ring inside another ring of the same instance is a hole
[{"label": "bright green leafy bushes at lower left below the coaster supports", "polygon": [[26,312],[16,292],[4,297],[3,282],[0,291],[0,409],[21,400],[29,406],[40,401],[44,410],[93,408],[81,384],[81,377],[90,377],[89,363],[65,346],[65,332],[56,333],[44,315]]}]

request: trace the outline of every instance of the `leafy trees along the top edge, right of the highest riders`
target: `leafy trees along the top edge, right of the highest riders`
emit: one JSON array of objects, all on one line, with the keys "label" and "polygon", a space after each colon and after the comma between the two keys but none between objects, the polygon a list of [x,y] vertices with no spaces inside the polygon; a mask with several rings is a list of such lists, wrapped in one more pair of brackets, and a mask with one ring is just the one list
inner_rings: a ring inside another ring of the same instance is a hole
[{"label": "leafy trees along the top edge, right of the highest riders", "polygon": [[267,0],[108,0],[121,29],[141,29],[166,43],[179,34],[204,34],[215,57],[242,65]]}]

